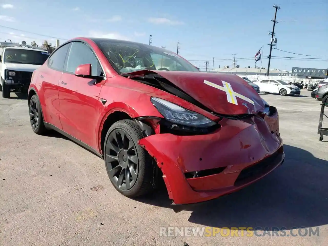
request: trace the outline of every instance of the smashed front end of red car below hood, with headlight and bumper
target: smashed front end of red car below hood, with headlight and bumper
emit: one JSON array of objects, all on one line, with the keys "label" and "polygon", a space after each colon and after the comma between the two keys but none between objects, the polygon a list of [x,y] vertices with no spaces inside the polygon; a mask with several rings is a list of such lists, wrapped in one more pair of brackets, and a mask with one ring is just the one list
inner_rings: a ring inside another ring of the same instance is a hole
[{"label": "smashed front end of red car below hood, with headlight and bumper", "polygon": [[151,97],[163,117],[135,118],[144,132],[138,144],[154,158],[174,204],[198,203],[230,194],[282,164],[277,109],[264,100],[258,112],[221,114],[151,71],[127,77],[169,92],[213,115],[210,119]]}]

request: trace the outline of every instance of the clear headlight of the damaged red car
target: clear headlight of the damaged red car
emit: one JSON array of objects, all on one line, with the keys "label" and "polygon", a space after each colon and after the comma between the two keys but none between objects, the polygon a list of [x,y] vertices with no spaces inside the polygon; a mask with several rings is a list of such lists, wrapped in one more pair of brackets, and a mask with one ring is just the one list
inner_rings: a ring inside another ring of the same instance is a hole
[{"label": "clear headlight of the damaged red car", "polygon": [[199,113],[187,110],[164,99],[151,97],[150,100],[158,112],[172,123],[200,128],[210,127],[216,124]]}]

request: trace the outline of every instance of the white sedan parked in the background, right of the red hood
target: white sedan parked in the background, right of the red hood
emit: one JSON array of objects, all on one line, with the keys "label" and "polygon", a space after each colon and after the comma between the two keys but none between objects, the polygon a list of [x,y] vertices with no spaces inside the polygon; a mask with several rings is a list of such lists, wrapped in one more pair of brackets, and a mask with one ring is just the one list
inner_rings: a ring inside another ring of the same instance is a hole
[{"label": "white sedan parked in the background, right of the red hood", "polygon": [[296,85],[290,85],[282,80],[262,79],[253,83],[260,87],[261,92],[279,93],[282,96],[301,94],[301,91]]}]

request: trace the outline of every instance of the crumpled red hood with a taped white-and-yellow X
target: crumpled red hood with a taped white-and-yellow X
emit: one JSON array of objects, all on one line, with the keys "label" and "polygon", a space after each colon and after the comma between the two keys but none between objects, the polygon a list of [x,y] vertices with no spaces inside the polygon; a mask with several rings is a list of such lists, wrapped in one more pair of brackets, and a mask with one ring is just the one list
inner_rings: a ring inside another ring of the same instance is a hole
[{"label": "crumpled red hood with a taped white-and-yellow X", "polygon": [[180,71],[139,71],[133,73],[152,72],[166,78],[215,113],[255,114],[264,110],[264,102],[259,94],[237,75]]}]

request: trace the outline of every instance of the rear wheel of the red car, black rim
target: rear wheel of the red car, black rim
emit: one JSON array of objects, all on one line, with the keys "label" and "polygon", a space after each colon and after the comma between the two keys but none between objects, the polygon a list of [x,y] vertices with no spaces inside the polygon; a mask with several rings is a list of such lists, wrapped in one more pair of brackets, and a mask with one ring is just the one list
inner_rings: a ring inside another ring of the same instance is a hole
[{"label": "rear wheel of the red car, black rim", "polygon": [[34,133],[38,135],[43,135],[47,132],[47,129],[44,125],[43,115],[41,111],[41,104],[37,95],[31,97],[29,103],[29,112],[30,112],[30,123]]}]

